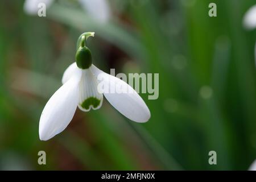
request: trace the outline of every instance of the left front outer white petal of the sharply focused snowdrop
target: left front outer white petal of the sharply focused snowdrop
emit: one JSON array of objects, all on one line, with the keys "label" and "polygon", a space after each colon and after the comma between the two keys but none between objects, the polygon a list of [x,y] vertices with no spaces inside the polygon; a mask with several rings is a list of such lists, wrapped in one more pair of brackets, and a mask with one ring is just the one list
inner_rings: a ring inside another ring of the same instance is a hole
[{"label": "left front outer white petal of the sharply focused snowdrop", "polygon": [[79,102],[81,71],[75,72],[49,99],[39,122],[40,140],[48,140],[63,131],[71,122]]}]

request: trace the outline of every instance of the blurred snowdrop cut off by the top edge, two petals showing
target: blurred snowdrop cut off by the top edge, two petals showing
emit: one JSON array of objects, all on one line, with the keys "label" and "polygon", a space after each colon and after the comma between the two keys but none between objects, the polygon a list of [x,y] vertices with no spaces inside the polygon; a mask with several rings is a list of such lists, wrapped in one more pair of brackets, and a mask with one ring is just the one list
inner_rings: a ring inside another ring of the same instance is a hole
[{"label": "blurred snowdrop cut off by the top edge, two petals showing", "polygon": [[[100,23],[105,23],[110,18],[110,8],[106,0],[78,0],[82,8],[92,18]],[[26,0],[24,3],[24,11],[30,15],[38,14],[40,3],[44,3],[46,7],[51,6],[53,0]]]}]

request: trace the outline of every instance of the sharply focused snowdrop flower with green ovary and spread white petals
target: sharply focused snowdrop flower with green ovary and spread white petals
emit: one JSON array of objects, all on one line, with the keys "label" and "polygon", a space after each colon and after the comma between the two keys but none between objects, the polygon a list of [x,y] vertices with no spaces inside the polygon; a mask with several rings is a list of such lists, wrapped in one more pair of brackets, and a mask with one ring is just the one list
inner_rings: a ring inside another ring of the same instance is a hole
[{"label": "sharply focused snowdrop flower with green ovary and spread white petals", "polygon": [[[150,118],[147,105],[130,85],[92,64],[90,49],[86,47],[89,36],[94,36],[94,32],[85,32],[79,37],[76,62],[66,69],[62,78],[63,85],[43,109],[39,122],[40,140],[48,140],[63,131],[71,122],[77,106],[82,111],[100,109],[103,94],[115,109],[132,121],[147,122]],[[133,92],[105,92],[99,89],[101,82],[110,85],[110,89],[122,87]]]}]

